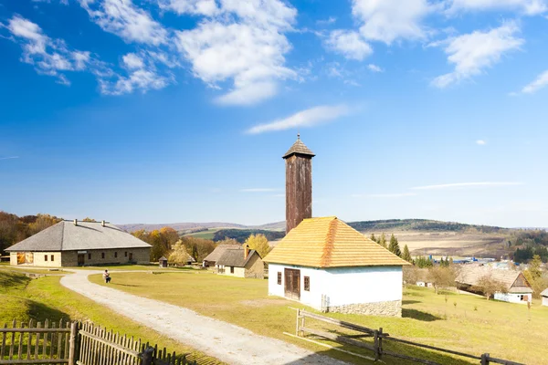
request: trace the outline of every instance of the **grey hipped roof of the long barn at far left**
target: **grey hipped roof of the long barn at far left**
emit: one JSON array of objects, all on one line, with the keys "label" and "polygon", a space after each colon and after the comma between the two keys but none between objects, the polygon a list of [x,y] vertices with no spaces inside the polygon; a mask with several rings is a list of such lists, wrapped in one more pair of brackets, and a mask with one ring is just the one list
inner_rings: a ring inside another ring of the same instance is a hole
[{"label": "grey hipped roof of the long barn at far left", "polygon": [[6,248],[5,251],[58,252],[141,247],[151,247],[151,245],[113,224],[102,226],[95,222],[78,222],[74,225],[72,222],[61,221]]}]

